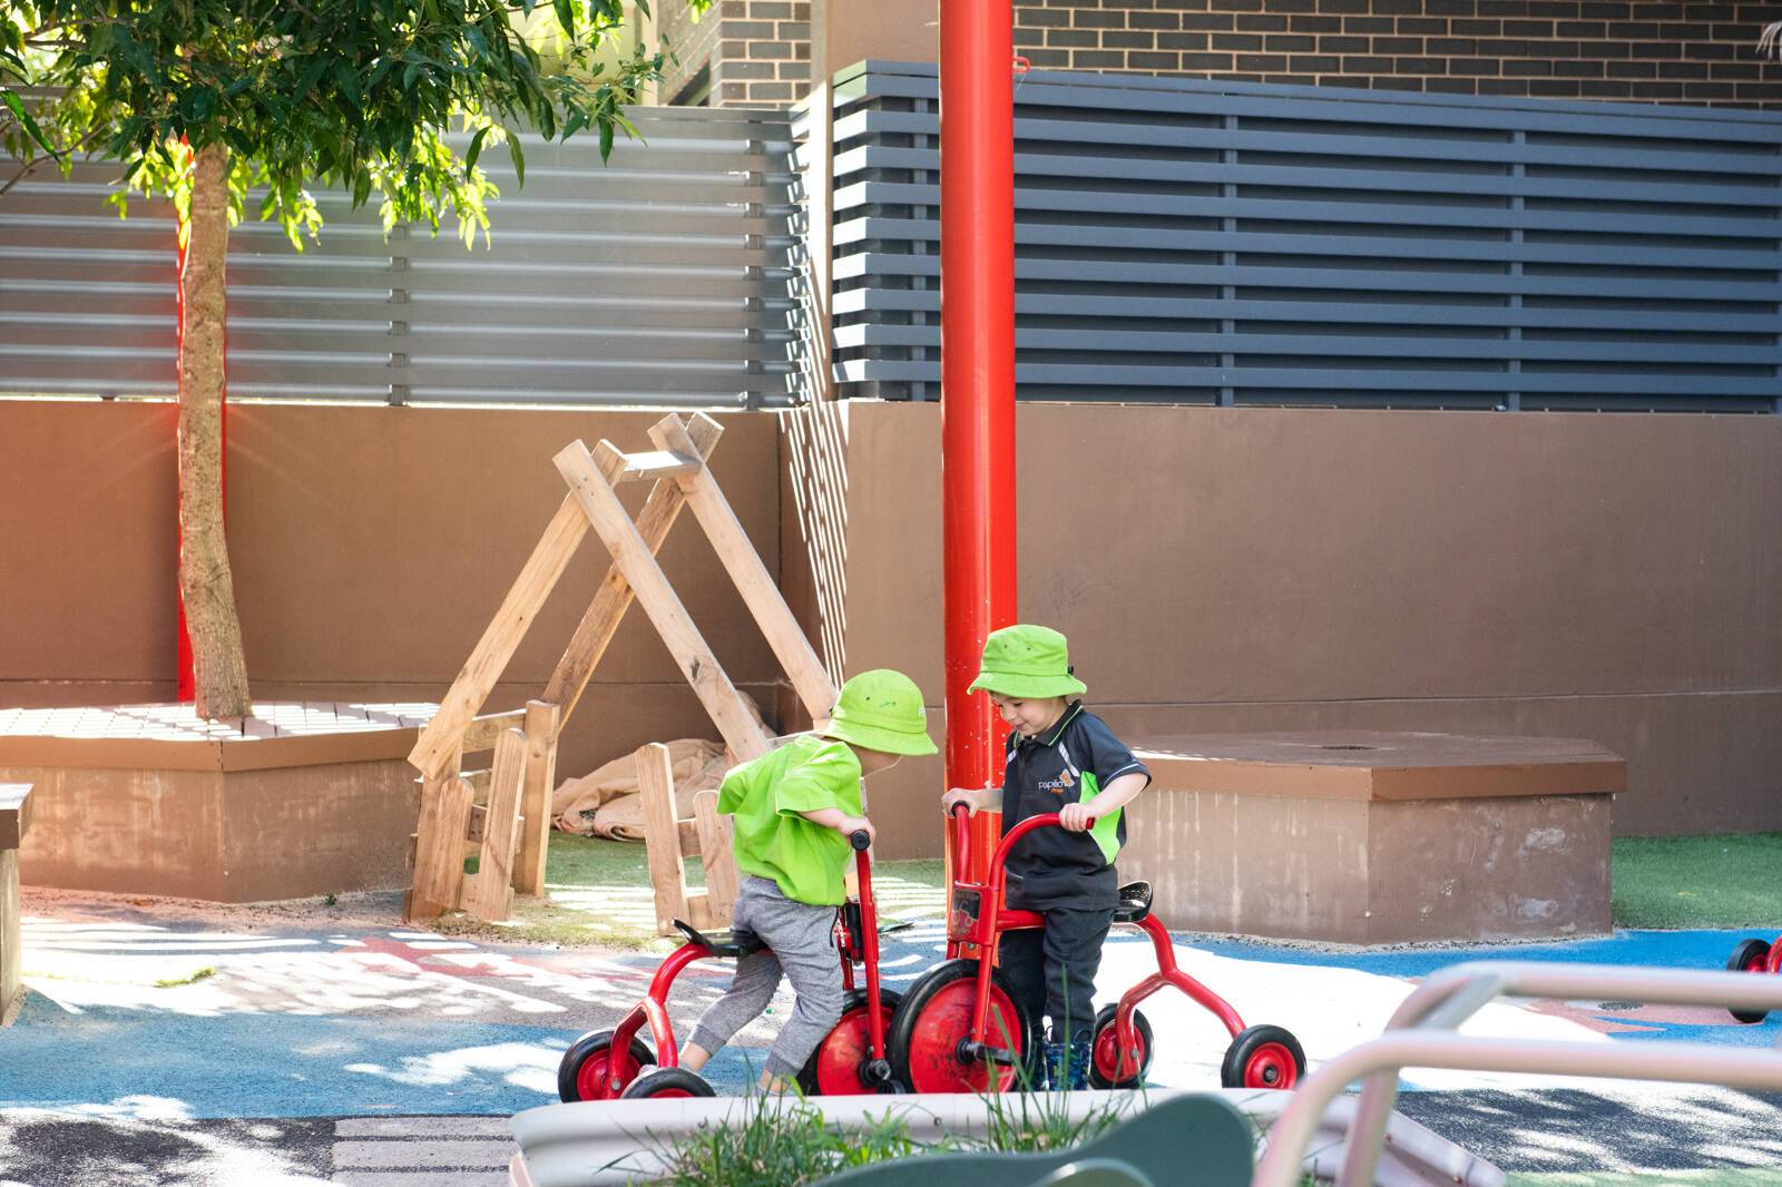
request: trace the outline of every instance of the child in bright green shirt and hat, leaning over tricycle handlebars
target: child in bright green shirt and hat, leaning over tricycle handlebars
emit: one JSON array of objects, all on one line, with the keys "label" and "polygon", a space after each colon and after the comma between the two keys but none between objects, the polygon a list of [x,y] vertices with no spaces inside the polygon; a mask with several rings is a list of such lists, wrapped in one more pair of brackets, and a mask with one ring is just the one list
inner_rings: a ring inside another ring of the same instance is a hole
[{"label": "child in bright green shirt and hat, leaning over tricycle handlebars", "polygon": [[711,1053],[759,1018],[781,977],[793,1012],[773,1041],[761,1087],[784,1091],[841,1019],[841,961],[832,932],[846,898],[843,872],[852,832],[873,834],[861,781],[905,754],[934,754],[921,690],[902,672],[861,672],[841,686],[827,725],[723,777],[718,811],[734,816],[736,868],[743,875],[732,914],[766,948],[736,962],[731,989],[711,1003],[681,1052],[699,1071]]}]

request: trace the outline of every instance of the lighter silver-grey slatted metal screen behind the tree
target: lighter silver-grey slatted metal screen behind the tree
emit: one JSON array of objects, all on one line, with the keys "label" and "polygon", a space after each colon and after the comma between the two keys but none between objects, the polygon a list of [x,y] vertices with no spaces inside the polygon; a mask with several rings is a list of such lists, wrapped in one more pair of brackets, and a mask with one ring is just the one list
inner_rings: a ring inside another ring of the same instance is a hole
[{"label": "lighter silver-grey slatted metal screen behind the tree", "polygon": [[[383,235],[319,194],[298,253],[230,235],[230,396],[422,403],[786,403],[791,214],[784,112],[634,109],[645,143],[592,135],[481,164],[492,235]],[[175,230],[105,205],[114,164],[45,168],[0,198],[0,392],[175,392]],[[0,176],[11,176],[0,162]]]}]

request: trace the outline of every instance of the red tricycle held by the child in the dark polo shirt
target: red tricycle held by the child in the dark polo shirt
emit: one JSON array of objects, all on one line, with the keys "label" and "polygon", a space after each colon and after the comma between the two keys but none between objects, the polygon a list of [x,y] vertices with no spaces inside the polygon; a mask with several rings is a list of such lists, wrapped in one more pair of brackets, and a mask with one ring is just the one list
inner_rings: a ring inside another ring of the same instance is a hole
[{"label": "red tricycle held by the child in the dark polo shirt", "polygon": [[[980,1093],[1016,1084],[1021,1068],[1034,1069],[1039,1019],[1016,1002],[1009,980],[994,966],[996,937],[1023,927],[1044,927],[1034,911],[1003,907],[1009,852],[1034,829],[1057,827],[1057,813],[1014,825],[991,859],[989,877],[968,868],[968,811],[953,806],[953,905],[946,927],[948,961],[916,980],[891,1018],[891,1075],[912,1093]],[[1151,1023],[1139,1002],[1174,986],[1212,1011],[1231,1034],[1219,1078],[1224,1087],[1290,1089],[1306,1071],[1299,1041],[1281,1027],[1246,1027],[1224,998],[1176,968],[1169,930],[1151,914],[1151,888],[1132,882],[1119,891],[1116,925],[1137,927],[1151,937],[1157,971],[1105,1005],[1094,1021],[1089,1082],[1094,1087],[1144,1084],[1151,1066]],[[966,945],[977,955],[962,957]]]}]

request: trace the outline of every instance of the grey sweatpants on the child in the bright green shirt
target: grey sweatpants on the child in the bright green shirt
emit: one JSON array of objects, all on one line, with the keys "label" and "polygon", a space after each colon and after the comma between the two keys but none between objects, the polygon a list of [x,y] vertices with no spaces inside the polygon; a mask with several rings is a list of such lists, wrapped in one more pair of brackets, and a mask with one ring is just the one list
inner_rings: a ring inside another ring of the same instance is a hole
[{"label": "grey sweatpants on the child in the bright green shirt", "polygon": [[834,945],[834,907],[793,902],[773,879],[743,879],[731,930],[766,943],[736,962],[736,980],[693,1027],[693,1043],[716,1052],[768,1009],[781,975],[791,978],[791,1018],[768,1052],[768,1071],[789,1080],[841,1021],[841,957]]}]

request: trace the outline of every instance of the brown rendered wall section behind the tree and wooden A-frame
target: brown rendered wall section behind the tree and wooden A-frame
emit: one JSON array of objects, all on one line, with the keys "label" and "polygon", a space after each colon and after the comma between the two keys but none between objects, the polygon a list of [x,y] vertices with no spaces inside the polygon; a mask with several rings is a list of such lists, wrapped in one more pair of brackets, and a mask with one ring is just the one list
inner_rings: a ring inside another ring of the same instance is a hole
[{"label": "brown rendered wall section behind the tree and wooden A-frame", "polygon": [[[649,447],[661,412],[237,405],[228,524],[258,700],[437,700],[565,492],[581,437]],[[722,415],[713,471],[779,567],[779,440]],[[622,488],[633,513],[642,485]],[[731,677],[772,713],[779,670],[691,517],[663,565]],[[490,697],[544,690],[606,567],[590,536]],[[0,401],[0,706],[173,699],[173,408]],[[642,613],[565,734],[565,775],[715,736]]]}]

